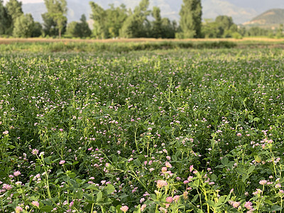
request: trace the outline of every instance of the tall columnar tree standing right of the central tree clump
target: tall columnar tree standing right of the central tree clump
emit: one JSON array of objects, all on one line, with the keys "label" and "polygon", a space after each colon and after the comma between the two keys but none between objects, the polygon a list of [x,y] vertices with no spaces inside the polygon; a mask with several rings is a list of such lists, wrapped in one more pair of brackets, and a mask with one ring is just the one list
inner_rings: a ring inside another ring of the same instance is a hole
[{"label": "tall columnar tree standing right of the central tree clump", "polygon": [[201,37],[201,0],[183,0],[180,9],[180,29],[178,38]]}]

